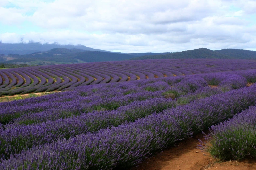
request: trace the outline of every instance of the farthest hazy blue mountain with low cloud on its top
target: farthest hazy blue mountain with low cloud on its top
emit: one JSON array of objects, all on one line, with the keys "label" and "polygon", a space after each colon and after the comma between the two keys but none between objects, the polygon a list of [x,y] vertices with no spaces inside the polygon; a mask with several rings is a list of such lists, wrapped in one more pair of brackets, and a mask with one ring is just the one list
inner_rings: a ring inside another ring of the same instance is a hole
[{"label": "farthest hazy blue mountain with low cloud on its top", "polygon": [[84,45],[60,45],[60,44],[40,44],[40,43],[1,43],[0,41],[0,54],[31,54],[34,52],[48,51],[54,48],[66,48],[66,49],[82,49],[87,51],[101,51],[109,52],[100,49],[93,49]]}]

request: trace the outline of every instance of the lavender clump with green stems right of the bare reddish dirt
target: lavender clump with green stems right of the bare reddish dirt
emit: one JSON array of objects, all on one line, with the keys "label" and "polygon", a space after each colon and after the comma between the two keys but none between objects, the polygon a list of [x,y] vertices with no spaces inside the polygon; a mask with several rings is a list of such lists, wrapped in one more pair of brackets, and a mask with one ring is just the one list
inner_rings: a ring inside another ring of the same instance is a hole
[{"label": "lavender clump with green stems right of the bare reddish dirt", "polygon": [[205,136],[207,143],[201,149],[221,160],[256,157],[256,106],[242,111],[233,118],[212,126]]}]

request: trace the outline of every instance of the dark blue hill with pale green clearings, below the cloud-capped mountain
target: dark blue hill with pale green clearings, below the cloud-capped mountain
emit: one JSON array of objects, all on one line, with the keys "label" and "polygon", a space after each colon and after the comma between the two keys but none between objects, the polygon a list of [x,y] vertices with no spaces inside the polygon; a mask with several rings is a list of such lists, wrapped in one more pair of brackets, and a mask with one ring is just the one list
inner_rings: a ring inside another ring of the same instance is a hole
[{"label": "dark blue hill with pale green clearings, below the cloud-capped mountain", "polygon": [[[32,54],[9,54],[8,56],[0,56],[0,59],[2,59],[0,61],[12,64],[54,65],[102,61],[119,61],[128,60],[133,57],[136,56],[124,53],[54,48],[45,52],[35,52]],[[6,58],[9,58],[10,60],[7,61]]]}]

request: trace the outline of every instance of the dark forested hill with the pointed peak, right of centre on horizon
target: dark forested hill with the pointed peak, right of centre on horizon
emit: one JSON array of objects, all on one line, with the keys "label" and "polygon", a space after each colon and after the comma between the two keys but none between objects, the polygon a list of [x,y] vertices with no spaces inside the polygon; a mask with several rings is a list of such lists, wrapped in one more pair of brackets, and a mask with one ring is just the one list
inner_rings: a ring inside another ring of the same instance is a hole
[{"label": "dark forested hill with the pointed peak, right of centre on horizon", "polygon": [[173,52],[160,55],[146,55],[132,58],[130,60],[145,60],[145,59],[175,59],[175,58],[234,58],[210,49],[200,48],[182,52]]}]

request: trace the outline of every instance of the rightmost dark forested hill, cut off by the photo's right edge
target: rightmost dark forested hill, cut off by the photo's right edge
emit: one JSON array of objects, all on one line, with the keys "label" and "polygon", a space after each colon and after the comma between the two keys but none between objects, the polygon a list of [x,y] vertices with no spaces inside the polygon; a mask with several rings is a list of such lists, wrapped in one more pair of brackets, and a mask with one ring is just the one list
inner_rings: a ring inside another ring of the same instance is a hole
[{"label": "rightmost dark forested hill, cut off by the photo's right edge", "polygon": [[256,51],[242,50],[242,49],[222,49],[215,50],[218,53],[232,56],[240,59],[256,59]]}]

